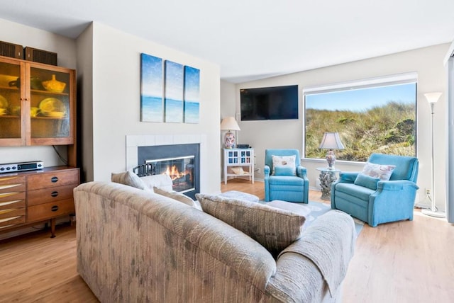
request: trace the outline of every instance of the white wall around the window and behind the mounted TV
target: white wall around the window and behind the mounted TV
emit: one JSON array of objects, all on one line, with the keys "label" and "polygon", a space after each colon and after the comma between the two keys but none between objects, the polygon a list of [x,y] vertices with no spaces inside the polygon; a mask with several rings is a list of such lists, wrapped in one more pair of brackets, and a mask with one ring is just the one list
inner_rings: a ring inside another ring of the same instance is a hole
[{"label": "white wall around the window and behind the mounted TV", "polygon": [[[445,193],[445,166],[446,166],[446,127],[447,120],[445,112],[447,110],[447,87],[445,81],[445,68],[443,59],[448,51],[449,44],[424,47],[408,52],[399,52],[393,55],[365,59],[358,62],[339,64],[332,67],[314,69],[307,72],[299,72],[284,76],[277,76],[261,81],[253,81],[236,85],[236,101],[225,100],[223,94],[221,102],[228,103],[240,110],[240,88],[253,88],[264,86],[281,86],[298,84],[299,85],[299,120],[279,120],[279,121],[245,121],[239,122],[241,131],[241,142],[249,143],[255,147],[256,161],[258,167],[264,163],[265,149],[267,148],[296,148],[301,152],[302,147],[302,89],[306,86],[316,86],[323,84],[334,84],[344,81],[355,81],[377,76],[387,76],[406,72],[417,72],[418,74],[418,93],[417,93],[417,156],[420,161],[419,198],[423,199],[424,188],[431,188],[431,111],[423,93],[441,91],[443,96],[436,104],[435,113],[435,193],[438,197],[437,207],[441,210],[445,208],[442,199]],[[221,113],[223,115],[223,113]],[[311,187],[316,187],[316,180],[319,178],[317,167],[325,166],[326,161],[303,160],[302,164],[308,168],[308,176]],[[362,164],[336,162],[336,168],[343,171],[360,171]],[[263,178],[262,173],[256,175]]]}]

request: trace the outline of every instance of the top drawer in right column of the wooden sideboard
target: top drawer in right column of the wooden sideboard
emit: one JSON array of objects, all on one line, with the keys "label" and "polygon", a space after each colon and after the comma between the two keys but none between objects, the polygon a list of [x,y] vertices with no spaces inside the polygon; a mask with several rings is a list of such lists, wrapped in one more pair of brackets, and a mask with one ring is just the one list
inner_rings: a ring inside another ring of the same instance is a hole
[{"label": "top drawer in right column of the wooden sideboard", "polygon": [[39,173],[27,177],[27,190],[50,188],[62,185],[78,184],[79,170],[53,171],[50,173]]}]

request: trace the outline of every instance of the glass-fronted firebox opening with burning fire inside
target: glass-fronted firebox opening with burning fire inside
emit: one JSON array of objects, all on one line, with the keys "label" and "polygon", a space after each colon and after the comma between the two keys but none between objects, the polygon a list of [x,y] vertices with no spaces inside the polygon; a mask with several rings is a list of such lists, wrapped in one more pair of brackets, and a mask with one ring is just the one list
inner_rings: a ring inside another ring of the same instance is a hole
[{"label": "glass-fronted firebox opening with burning fire inside", "polygon": [[194,190],[194,156],[179,156],[165,159],[150,159],[145,163],[151,164],[154,175],[167,174],[172,179],[173,190],[187,193]]}]

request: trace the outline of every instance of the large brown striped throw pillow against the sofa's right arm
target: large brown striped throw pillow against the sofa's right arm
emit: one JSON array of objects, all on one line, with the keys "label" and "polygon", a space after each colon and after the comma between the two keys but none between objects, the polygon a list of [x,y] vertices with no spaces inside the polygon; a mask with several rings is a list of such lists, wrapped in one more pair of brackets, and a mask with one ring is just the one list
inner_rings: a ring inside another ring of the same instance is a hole
[{"label": "large brown striped throw pillow against the sofa's right arm", "polygon": [[196,194],[202,210],[243,231],[277,257],[299,239],[306,218],[256,202]]}]

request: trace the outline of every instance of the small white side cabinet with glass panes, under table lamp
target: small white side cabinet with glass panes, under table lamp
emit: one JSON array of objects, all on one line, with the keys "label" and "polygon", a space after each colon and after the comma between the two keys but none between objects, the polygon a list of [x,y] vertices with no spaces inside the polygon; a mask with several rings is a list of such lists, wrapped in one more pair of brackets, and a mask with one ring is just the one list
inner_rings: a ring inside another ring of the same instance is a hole
[{"label": "small white side cabinet with glass panes, under table lamp", "polygon": [[249,177],[254,183],[254,149],[224,149],[224,183],[228,177]]}]

